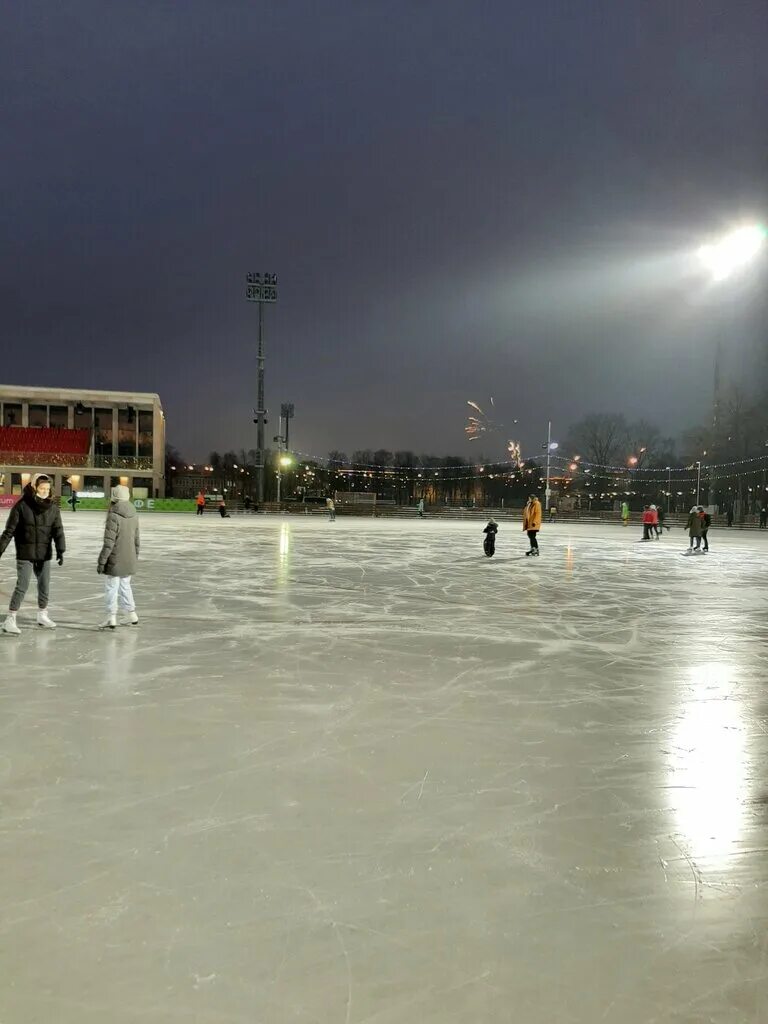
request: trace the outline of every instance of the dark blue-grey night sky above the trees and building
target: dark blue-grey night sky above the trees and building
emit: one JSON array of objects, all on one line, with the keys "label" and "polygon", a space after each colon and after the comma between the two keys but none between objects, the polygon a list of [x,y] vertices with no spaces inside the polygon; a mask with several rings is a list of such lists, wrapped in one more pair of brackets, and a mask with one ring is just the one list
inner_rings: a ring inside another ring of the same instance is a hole
[{"label": "dark blue-grey night sky above the trees and building", "polygon": [[768,216],[765,0],[0,11],[3,383],[158,391],[187,458],[251,447],[248,269],[318,454],[477,456],[489,395],[524,454],[592,409],[677,432],[715,339],[740,373],[766,343],[765,270],[715,296],[690,257]]}]

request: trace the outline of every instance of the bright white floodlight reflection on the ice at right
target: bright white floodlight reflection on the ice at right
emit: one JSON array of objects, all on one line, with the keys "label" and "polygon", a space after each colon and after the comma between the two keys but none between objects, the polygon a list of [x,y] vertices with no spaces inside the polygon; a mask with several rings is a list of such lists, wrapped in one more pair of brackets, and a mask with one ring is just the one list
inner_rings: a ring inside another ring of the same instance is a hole
[{"label": "bright white floodlight reflection on the ice at right", "polygon": [[672,809],[691,853],[723,865],[743,827],[748,796],[744,723],[732,665],[690,670],[690,690],[673,731]]}]

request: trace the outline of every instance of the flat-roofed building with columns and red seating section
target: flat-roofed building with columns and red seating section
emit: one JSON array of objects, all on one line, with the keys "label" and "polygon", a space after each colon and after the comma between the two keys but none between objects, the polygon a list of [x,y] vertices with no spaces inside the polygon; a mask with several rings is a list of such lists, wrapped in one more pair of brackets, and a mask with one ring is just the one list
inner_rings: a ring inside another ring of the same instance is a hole
[{"label": "flat-roofed building with columns and red seating section", "polygon": [[56,494],[165,497],[165,414],[157,394],[0,385],[0,498],[34,473]]}]

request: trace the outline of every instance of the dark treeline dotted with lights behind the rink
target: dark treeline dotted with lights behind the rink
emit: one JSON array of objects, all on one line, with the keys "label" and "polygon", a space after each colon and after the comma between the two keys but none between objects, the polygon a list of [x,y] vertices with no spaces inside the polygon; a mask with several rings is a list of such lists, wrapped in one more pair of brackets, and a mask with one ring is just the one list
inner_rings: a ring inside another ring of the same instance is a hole
[{"label": "dark treeline dotted with lights behind the rink", "polygon": [[[629,421],[621,413],[593,413],[572,424],[551,460],[552,504],[567,508],[614,508],[627,501],[633,509],[664,503],[688,508],[696,499],[736,515],[756,511],[768,496],[768,417],[766,401],[749,398],[738,388],[725,391],[712,422],[686,431],[676,443],[648,420]],[[266,453],[265,498],[276,499],[278,458]],[[474,455],[474,453],[473,453]],[[338,450],[324,459],[290,454],[281,467],[284,501],[377,500],[428,505],[518,507],[527,496],[544,497],[544,453],[522,465],[493,462],[478,452],[434,456],[412,451]],[[204,466],[190,467],[172,447],[166,476],[172,493],[196,488],[223,493],[228,499],[255,500],[256,452],[213,452]]]}]

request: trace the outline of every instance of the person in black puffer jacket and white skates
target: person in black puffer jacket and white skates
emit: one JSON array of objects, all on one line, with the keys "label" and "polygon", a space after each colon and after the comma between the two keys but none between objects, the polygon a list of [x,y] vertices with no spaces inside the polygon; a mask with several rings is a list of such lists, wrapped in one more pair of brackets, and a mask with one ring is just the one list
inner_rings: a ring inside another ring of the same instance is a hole
[{"label": "person in black puffer jacket and white skates", "polygon": [[55,547],[56,561],[63,565],[67,546],[61,513],[51,496],[49,476],[38,474],[31,484],[27,484],[22,498],[10,510],[5,529],[0,535],[0,556],[11,540],[16,546],[16,587],[10,598],[3,632],[14,635],[22,632],[16,625],[16,612],[22,607],[33,573],[37,580],[37,624],[43,629],[54,630],[56,624],[47,610],[50,562]]}]

